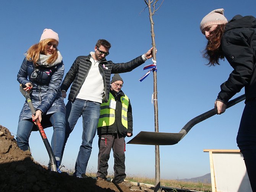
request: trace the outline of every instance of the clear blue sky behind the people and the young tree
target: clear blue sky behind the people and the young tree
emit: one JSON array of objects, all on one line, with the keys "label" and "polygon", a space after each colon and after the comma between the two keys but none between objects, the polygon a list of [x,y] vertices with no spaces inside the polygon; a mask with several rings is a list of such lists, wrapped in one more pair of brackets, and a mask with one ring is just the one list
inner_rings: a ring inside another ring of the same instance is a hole
[{"label": "clear blue sky behind the people and the young tree", "polygon": [[[160,1],[161,2],[161,1]],[[36,44],[45,28],[56,31],[58,49],[63,56],[65,73],[75,58],[88,55],[98,39],[111,44],[107,60],[127,62],[151,48],[149,13],[144,0],[61,1],[50,3],[29,0],[9,0],[0,3],[1,63],[0,124],[16,134],[18,117],[24,103],[19,92],[17,73],[23,53]],[[159,131],[179,132],[190,119],[214,107],[220,84],[226,81],[232,68],[227,61],[220,66],[206,66],[201,51],[206,39],[199,30],[201,19],[210,11],[224,8],[226,18],[254,15],[256,2],[246,0],[180,1],[165,0],[154,15],[157,46],[157,86]],[[152,73],[143,81],[145,65],[121,74],[122,90],[133,107],[133,135],[154,131]],[[244,89],[235,97],[244,94]],[[65,99],[67,103],[67,99]],[[176,145],[160,146],[160,176],[165,179],[198,177],[210,173],[209,154],[203,149],[238,149],[236,136],[244,103],[238,103],[222,115],[215,115],[196,126]],[[66,144],[63,164],[75,167],[81,145],[80,118]],[[52,128],[45,129],[50,141]],[[97,171],[97,136],[94,138],[87,171]],[[126,137],[126,142],[130,138]],[[34,159],[44,165],[49,157],[39,132],[32,132],[30,147]],[[154,177],[155,147],[126,145],[126,173],[130,176]],[[113,157],[109,160],[113,173]]]}]

